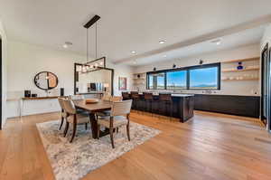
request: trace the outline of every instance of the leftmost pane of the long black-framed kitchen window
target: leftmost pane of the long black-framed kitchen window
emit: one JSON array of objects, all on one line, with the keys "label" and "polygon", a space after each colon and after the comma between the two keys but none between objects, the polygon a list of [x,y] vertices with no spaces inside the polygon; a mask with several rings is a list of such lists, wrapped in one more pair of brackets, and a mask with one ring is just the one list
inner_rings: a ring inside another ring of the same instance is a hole
[{"label": "leftmost pane of the long black-framed kitchen window", "polygon": [[164,90],[164,72],[148,74],[149,90]]}]

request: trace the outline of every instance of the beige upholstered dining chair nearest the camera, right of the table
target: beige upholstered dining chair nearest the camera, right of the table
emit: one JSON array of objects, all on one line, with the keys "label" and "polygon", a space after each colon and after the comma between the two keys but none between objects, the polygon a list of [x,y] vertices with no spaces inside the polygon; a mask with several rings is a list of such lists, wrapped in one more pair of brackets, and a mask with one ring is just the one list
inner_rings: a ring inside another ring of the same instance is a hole
[{"label": "beige upholstered dining chair nearest the camera, right of the table", "polygon": [[130,141],[130,111],[132,106],[132,100],[124,100],[118,102],[112,102],[111,113],[109,117],[98,118],[98,137],[99,129],[101,126],[109,128],[110,139],[112,148],[115,148],[113,131],[116,128],[126,125],[126,133],[128,140]]}]

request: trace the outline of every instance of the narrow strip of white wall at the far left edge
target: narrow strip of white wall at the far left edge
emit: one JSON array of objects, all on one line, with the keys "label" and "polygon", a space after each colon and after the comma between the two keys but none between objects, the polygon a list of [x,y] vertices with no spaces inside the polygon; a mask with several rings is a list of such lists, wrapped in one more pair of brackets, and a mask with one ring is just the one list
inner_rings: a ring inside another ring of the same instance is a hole
[{"label": "narrow strip of white wall at the far left edge", "polygon": [[7,38],[5,29],[0,21],[0,38],[2,39],[2,126],[5,125],[6,118],[6,62],[7,62]]}]

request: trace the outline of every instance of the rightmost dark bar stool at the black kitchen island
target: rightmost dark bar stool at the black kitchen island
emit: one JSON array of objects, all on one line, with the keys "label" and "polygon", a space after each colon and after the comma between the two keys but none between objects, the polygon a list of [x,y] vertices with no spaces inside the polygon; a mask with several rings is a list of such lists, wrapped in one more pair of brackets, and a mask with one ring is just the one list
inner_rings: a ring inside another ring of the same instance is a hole
[{"label": "rightmost dark bar stool at the black kitchen island", "polygon": [[[173,117],[173,99],[172,94],[169,93],[159,93],[159,109],[162,110],[163,115]],[[162,106],[162,108],[161,108]]]}]

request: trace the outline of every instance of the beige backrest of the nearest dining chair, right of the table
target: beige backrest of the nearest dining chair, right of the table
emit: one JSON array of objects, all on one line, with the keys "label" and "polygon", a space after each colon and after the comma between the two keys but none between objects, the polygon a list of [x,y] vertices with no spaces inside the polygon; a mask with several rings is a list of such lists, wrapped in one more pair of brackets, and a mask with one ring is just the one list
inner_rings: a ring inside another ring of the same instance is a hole
[{"label": "beige backrest of the nearest dining chair, right of the table", "polygon": [[123,100],[112,103],[111,116],[123,116],[131,111],[132,100]]}]

